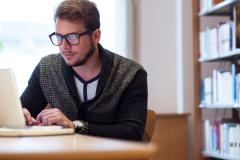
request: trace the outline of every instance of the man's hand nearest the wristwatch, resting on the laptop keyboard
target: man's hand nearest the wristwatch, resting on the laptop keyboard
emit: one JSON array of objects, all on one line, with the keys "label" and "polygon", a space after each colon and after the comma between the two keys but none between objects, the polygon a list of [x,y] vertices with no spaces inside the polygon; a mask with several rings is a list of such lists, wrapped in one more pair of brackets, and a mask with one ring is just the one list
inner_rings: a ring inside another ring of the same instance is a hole
[{"label": "man's hand nearest the wristwatch, resting on the laptop keyboard", "polygon": [[74,128],[71,120],[69,120],[58,108],[53,108],[48,104],[36,118],[41,125],[61,125],[68,128]]}]

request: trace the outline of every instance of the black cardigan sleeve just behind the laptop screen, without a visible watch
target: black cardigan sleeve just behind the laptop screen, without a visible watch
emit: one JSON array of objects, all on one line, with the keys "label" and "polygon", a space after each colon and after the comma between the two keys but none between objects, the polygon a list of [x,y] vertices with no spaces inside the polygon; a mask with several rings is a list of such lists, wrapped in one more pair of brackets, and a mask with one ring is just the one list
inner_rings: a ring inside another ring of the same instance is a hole
[{"label": "black cardigan sleeve just behind the laptop screen, without a visible watch", "polygon": [[47,105],[47,101],[40,87],[39,67],[38,64],[28,81],[27,88],[20,97],[22,106],[27,108],[33,117],[36,117],[37,114]]}]

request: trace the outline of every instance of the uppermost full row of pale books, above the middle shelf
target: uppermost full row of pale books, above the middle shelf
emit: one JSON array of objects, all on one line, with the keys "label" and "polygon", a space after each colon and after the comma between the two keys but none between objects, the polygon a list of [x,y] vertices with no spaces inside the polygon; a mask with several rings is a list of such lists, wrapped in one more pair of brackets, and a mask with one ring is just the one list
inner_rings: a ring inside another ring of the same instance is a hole
[{"label": "uppermost full row of pale books, above the middle shelf", "polygon": [[232,49],[233,22],[219,23],[200,32],[200,59],[226,56]]}]

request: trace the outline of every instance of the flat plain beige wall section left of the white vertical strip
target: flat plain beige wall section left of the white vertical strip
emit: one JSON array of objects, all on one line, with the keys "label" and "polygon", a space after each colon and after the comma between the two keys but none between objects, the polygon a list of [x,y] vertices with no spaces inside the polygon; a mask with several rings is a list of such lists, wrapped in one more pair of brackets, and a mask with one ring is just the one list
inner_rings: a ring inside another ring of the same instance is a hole
[{"label": "flat plain beige wall section left of the white vertical strip", "polygon": [[140,61],[148,72],[149,105],[159,112],[176,112],[177,106],[173,6],[174,0],[142,0],[140,6]]}]

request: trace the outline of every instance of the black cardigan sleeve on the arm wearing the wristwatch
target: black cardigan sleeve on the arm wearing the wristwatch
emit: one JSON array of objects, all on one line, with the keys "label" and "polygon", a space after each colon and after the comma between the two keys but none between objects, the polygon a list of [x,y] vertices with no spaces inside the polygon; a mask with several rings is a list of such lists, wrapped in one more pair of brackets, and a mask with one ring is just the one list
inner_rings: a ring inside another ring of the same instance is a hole
[{"label": "black cardigan sleeve on the arm wearing the wristwatch", "polygon": [[88,124],[88,134],[111,138],[142,140],[147,116],[147,73],[138,71],[121,96],[116,124]]}]

